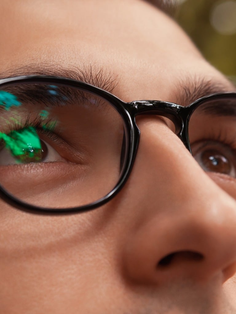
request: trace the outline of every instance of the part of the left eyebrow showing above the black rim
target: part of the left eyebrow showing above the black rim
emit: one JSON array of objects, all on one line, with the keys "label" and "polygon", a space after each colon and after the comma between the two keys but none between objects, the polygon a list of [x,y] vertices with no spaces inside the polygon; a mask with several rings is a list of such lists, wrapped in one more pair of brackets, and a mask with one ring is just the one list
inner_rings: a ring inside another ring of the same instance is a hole
[{"label": "part of the left eyebrow showing above the black rim", "polygon": [[69,65],[65,68],[61,64],[52,61],[13,66],[0,73],[0,79],[22,75],[51,75],[72,78],[94,85],[110,93],[112,93],[113,89],[119,83],[118,76],[115,76],[110,70],[104,69],[98,65],[92,65],[90,63],[86,66],[82,63],[81,68],[75,65]]}]

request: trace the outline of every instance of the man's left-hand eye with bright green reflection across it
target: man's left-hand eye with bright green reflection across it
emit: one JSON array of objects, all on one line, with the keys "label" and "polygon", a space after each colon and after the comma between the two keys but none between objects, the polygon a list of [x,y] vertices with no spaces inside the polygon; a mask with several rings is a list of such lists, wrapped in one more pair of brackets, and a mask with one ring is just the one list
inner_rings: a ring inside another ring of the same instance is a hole
[{"label": "man's left-hand eye with bright green reflection across it", "polygon": [[58,160],[65,159],[50,144],[40,139],[32,127],[5,135],[0,146],[0,165]]}]

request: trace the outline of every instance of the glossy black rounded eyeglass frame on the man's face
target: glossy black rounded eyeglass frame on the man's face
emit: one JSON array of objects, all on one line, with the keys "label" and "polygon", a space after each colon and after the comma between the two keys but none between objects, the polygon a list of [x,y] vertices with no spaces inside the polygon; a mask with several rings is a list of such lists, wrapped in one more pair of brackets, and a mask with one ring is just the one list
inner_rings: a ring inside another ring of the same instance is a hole
[{"label": "glossy black rounded eyeglass frame on the man's face", "polygon": [[138,115],[154,114],[163,116],[170,119],[175,125],[175,134],[181,139],[185,147],[191,152],[189,138],[188,138],[188,122],[193,112],[204,102],[221,99],[236,99],[236,93],[217,93],[208,96],[204,96],[195,100],[189,106],[180,106],[175,103],[160,101],[160,100],[139,100],[132,102],[124,102],[115,95],[100,89],[91,84],[77,81],[71,78],[54,77],[46,75],[26,75],[11,78],[0,79],[0,90],[6,87],[10,87],[16,84],[50,84],[50,85],[66,85],[68,88],[77,88],[85,92],[92,93],[98,97],[108,101],[121,115],[124,122],[124,131],[126,134],[126,158],[123,166],[123,170],[119,181],[116,186],[103,198],[97,201],[79,207],[73,208],[42,208],[35,205],[25,203],[14,195],[6,191],[0,185],[0,197],[8,204],[15,208],[24,210],[33,214],[71,214],[81,213],[88,210],[98,208],[105,203],[109,202],[115,195],[121,190],[127,181],[132,166],[135,161],[135,157],[138,150],[138,144],[140,139],[140,130],[135,122],[135,118]]}]

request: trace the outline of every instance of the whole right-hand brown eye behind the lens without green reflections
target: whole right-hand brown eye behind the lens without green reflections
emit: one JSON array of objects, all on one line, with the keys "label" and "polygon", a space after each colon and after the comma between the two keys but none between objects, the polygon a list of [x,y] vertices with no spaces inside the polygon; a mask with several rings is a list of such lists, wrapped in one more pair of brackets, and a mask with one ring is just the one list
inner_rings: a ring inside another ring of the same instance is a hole
[{"label": "whole right-hand brown eye behind the lens without green reflections", "polygon": [[205,171],[236,177],[236,156],[234,150],[220,142],[204,141],[194,143],[192,154]]}]

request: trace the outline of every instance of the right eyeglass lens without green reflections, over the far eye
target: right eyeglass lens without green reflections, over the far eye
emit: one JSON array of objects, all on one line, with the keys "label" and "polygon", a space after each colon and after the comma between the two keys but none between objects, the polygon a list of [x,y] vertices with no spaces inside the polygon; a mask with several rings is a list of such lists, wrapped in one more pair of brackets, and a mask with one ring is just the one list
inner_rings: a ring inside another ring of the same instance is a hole
[{"label": "right eyeglass lens without green reflections, over the far eye", "polygon": [[219,97],[196,108],[189,120],[192,154],[207,172],[236,177],[236,98]]}]

